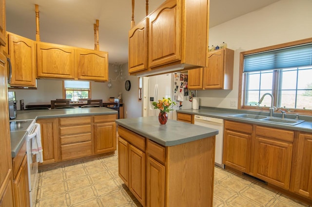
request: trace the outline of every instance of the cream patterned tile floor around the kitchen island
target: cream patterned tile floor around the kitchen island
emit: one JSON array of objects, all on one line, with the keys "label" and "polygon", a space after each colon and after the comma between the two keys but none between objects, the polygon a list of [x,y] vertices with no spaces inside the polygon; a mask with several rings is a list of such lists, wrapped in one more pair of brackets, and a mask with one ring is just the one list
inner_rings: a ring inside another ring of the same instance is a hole
[{"label": "cream patterned tile floor around the kitchen island", "polygon": [[[118,177],[117,153],[39,167],[36,207],[140,207]],[[309,207],[215,168],[214,207]]]}]

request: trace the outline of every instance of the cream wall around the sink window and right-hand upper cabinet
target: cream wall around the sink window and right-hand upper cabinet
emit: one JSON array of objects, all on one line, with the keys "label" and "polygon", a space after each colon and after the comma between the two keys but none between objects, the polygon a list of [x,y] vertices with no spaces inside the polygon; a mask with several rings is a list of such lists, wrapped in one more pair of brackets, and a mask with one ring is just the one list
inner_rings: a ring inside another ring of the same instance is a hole
[{"label": "cream wall around the sink window and right-hand upper cabinet", "polygon": [[312,0],[280,0],[211,28],[209,45],[226,42],[235,51],[233,90],[198,90],[200,105],[237,108],[239,53],[312,37],[311,8]]}]

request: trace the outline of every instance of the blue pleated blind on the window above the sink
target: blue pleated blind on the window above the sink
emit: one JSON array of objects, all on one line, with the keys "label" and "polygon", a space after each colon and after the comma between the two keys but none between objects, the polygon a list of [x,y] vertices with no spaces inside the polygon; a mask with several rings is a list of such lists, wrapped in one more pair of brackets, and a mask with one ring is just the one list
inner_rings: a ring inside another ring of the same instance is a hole
[{"label": "blue pleated blind on the window above the sink", "polygon": [[244,55],[244,72],[312,65],[312,43]]}]

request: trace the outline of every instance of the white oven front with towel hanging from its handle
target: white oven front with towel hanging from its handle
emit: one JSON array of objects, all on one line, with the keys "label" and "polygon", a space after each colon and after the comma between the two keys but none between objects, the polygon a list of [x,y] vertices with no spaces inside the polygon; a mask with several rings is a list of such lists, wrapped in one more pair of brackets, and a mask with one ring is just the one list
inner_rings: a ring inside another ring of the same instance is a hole
[{"label": "white oven front with towel hanging from its handle", "polygon": [[[37,191],[38,191],[38,162],[42,156],[40,136],[40,124],[34,123],[27,136],[26,154],[28,167],[28,181],[29,181],[29,197],[30,207],[36,205]],[[40,143],[39,143],[40,142]],[[41,154],[40,154],[41,149]],[[41,161],[42,162],[42,161]]]}]

